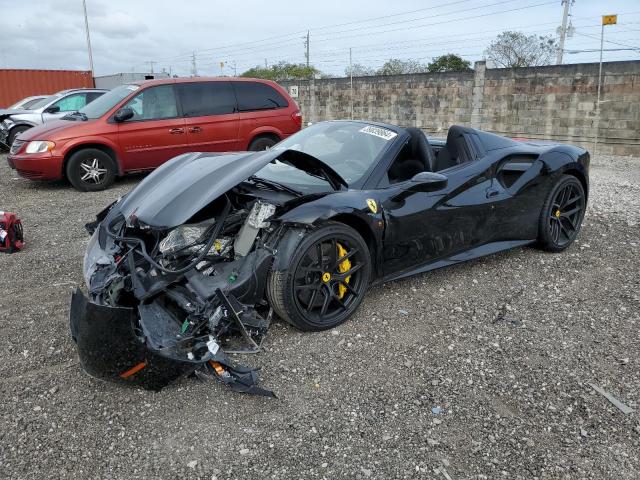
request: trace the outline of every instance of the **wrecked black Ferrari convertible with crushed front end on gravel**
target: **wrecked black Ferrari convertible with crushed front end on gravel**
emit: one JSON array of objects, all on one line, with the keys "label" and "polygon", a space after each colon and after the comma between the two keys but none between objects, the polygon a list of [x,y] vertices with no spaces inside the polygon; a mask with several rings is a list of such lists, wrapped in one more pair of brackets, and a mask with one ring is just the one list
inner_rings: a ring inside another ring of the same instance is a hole
[{"label": "wrecked black Ferrari convertible with crushed front end on gravel", "polygon": [[273,313],[324,330],[378,282],[529,244],[559,252],[588,169],[574,146],[359,121],[181,155],[88,225],[89,298],[71,305],[82,365],[151,389],[197,373],[270,394],[228,354],[258,351]]}]

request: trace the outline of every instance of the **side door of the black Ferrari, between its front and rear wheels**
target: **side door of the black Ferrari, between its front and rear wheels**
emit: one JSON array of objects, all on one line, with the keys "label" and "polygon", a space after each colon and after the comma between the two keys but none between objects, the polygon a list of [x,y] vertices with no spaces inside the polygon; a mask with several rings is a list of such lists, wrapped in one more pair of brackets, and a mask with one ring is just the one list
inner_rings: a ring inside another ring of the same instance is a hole
[{"label": "side door of the black Ferrari, between its front and rear wheels", "polygon": [[438,172],[447,185],[437,191],[414,192],[409,181],[384,188],[384,275],[402,275],[491,241],[492,171],[490,162],[478,160]]}]

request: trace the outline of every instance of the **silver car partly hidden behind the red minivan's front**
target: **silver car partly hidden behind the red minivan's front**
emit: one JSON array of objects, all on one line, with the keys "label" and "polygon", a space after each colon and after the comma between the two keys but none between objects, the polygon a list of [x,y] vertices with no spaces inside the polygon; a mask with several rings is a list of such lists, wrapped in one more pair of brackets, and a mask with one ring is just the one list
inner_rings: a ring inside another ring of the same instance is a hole
[{"label": "silver car partly hidden behind the red minivan's front", "polygon": [[0,143],[10,147],[25,130],[76,112],[107,91],[97,88],[62,90],[43,98],[29,110],[0,110]]}]

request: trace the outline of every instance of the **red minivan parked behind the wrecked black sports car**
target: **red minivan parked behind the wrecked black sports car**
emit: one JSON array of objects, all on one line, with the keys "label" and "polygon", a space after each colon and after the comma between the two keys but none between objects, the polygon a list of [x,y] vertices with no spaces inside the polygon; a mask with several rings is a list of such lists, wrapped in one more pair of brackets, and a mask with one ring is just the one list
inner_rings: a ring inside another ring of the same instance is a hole
[{"label": "red minivan parked behind the wrecked black sports car", "polygon": [[301,126],[298,105],[275,82],[149,80],[23,132],[7,160],[25,178],[67,178],[78,190],[96,191],[182,153],[264,150]]}]

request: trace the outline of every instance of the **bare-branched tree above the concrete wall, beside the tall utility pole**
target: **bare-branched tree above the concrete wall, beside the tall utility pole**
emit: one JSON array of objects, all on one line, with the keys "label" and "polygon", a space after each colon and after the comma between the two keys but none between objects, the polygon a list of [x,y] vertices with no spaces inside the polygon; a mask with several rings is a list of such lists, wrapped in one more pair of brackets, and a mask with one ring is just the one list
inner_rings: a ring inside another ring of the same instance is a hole
[{"label": "bare-branched tree above the concrete wall, beside the tall utility pole", "polygon": [[522,32],[502,32],[491,42],[485,55],[505,68],[548,65],[558,50],[552,36],[525,35]]}]

